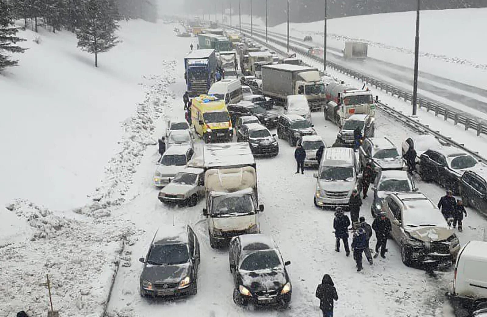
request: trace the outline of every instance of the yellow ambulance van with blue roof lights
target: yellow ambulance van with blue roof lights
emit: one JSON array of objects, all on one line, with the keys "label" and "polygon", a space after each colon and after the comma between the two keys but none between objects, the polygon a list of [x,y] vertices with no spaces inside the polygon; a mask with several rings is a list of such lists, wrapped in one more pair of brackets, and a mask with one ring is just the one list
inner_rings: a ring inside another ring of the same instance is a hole
[{"label": "yellow ambulance van with blue roof lights", "polygon": [[211,95],[193,98],[191,121],[194,131],[203,138],[205,143],[232,140],[233,127],[225,100]]}]

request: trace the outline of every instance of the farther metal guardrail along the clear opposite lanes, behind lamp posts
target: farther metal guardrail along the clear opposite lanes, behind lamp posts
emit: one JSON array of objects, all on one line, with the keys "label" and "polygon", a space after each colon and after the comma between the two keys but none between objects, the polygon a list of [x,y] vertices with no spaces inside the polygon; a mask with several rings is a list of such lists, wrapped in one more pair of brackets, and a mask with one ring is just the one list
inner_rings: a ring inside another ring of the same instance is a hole
[{"label": "farther metal guardrail along the clear opposite lanes, behind lamp posts", "polygon": [[[233,28],[236,29],[236,28]],[[243,33],[246,33],[248,35],[248,31],[245,31]],[[254,30],[254,40],[257,40],[255,36],[259,37],[264,37],[261,32]],[[287,43],[281,42],[276,40],[275,38],[270,38],[268,37],[269,41],[274,42],[276,44],[279,44],[281,46],[287,46]],[[267,45],[268,43],[265,43],[263,41],[258,40],[261,44]],[[296,41],[296,40],[289,40],[289,42],[298,44],[298,45],[303,45],[302,43]],[[292,49],[295,52],[298,52],[308,58],[312,58],[316,60],[317,62],[323,63],[323,58],[313,55],[308,53],[306,50],[300,47],[296,46],[289,46],[290,49]],[[275,48],[273,48],[275,50]],[[277,52],[277,51],[276,51]],[[353,77],[357,80],[362,81],[363,83],[367,83],[371,85],[372,87],[375,87],[377,89],[381,89],[386,91],[386,93],[390,93],[393,96],[397,96],[397,98],[402,98],[404,101],[412,101],[412,93],[404,91],[402,89],[393,87],[392,85],[389,85],[387,83],[384,83],[380,80],[377,80],[371,76],[367,76],[362,74],[361,72],[358,72],[356,70],[351,70],[349,68],[343,67],[341,65],[338,65],[337,63],[327,61],[326,65],[332,69],[335,69],[345,75],[348,75],[350,77]],[[452,120],[455,125],[458,123],[463,124],[465,126],[465,130],[467,131],[468,129],[473,129],[476,131],[477,136],[480,136],[481,134],[487,135],[487,123],[483,121],[477,120],[473,116],[468,116],[465,112],[458,112],[455,110],[452,110],[450,106],[447,106],[442,103],[438,103],[435,101],[431,101],[427,98],[423,97],[418,97],[417,99],[418,107],[419,108],[425,108],[427,112],[433,111],[435,116],[442,116],[445,121],[447,120]]]}]

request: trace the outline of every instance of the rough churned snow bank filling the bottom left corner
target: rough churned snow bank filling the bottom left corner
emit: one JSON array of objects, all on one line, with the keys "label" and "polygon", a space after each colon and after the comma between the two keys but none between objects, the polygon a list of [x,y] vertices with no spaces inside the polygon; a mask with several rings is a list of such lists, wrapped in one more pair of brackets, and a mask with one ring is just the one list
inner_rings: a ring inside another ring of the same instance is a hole
[{"label": "rough churned snow bank filling the bottom left corner", "polygon": [[139,232],[127,222],[59,216],[23,199],[6,208],[34,233],[0,248],[0,316],[46,315],[46,274],[61,316],[101,316],[117,264],[127,262],[120,257],[124,243],[132,245]]}]

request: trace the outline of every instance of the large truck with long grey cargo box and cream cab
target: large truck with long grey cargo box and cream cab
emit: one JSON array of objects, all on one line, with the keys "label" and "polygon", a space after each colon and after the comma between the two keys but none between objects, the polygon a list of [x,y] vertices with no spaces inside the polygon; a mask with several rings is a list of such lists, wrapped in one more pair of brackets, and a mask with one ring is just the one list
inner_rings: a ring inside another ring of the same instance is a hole
[{"label": "large truck with long grey cargo box and cream cab", "polygon": [[262,66],[262,93],[285,105],[289,95],[305,95],[310,110],[326,105],[325,85],[318,69],[298,65]]}]

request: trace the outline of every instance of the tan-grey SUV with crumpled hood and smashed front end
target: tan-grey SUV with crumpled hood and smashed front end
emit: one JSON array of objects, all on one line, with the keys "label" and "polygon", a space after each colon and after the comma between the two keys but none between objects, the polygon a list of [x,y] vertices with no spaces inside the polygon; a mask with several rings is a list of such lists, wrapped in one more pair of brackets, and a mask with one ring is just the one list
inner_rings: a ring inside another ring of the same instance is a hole
[{"label": "tan-grey SUV with crumpled hood and smashed front end", "polygon": [[389,194],[382,211],[391,220],[391,235],[407,266],[449,267],[457,258],[460,242],[448,228],[440,210],[421,193]]}]

